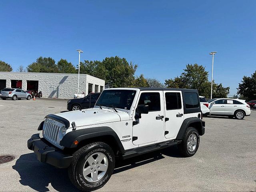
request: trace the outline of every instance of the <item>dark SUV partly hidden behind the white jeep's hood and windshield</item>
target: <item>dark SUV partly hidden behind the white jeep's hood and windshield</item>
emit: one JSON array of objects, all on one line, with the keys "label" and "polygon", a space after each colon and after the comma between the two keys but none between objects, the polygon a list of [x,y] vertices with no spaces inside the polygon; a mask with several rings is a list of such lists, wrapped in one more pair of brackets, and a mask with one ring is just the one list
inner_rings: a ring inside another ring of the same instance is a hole
[{"label": "dark SUV partly hidden behind the white jeep's hood and windshield", "polygon": [[68,100],[67,110],[76,111],[94,107],[100,93],[92,93],[84,98],[76,98]]}]

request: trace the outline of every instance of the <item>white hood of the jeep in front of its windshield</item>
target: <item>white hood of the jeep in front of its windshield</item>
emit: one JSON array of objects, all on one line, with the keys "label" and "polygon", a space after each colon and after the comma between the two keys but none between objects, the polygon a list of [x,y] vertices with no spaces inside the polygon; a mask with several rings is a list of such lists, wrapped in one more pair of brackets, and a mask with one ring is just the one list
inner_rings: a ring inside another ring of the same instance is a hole
[{"label": "white hood of the jeep in front of its windshield", "polygon": [[56,115],[68,120],[70,122],[70,126],[72,122],[75,122],[76,127],[117,122],[129,119],[129,115],[125,112],[114,112],[114,110],[104,108],[90,108],[59,113]]}]

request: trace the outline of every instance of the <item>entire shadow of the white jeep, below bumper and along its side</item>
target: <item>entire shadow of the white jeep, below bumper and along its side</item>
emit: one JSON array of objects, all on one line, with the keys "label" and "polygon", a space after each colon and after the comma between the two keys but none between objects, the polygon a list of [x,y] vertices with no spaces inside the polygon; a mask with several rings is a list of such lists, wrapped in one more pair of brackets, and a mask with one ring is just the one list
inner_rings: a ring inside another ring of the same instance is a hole
[{"label": "entire shadow of the white jeep, below bumper and along its side", "polygon": [[[178,155],[177,147],[173,146],[127,160],[116,159],[113,174],[163,159],[164,156],[162,154],[176,158],[181,157]],[[41,163],[37,160],[34,153],[21,155],[12,168],[20,174],[20,184],[29,186],[36,191],[50,191],[48,188],[49,184],[52,185],[54,190],[60,192],[79,191],[70,182],[67,169],[58,169],[46,163]]]}]

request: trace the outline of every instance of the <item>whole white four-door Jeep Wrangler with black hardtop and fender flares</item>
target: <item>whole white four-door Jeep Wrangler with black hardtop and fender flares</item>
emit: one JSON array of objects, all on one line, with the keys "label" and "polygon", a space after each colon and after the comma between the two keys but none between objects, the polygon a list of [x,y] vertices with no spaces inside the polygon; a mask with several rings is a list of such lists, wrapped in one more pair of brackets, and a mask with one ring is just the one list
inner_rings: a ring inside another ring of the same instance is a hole
[{"label": "whole white four-door Jeep Wrangler with black hardtop and fender flares", "polygon": [[49,114],[28,148],[40,162],[68,168],[72,183],[92,191],[108,182],[115,158],[130,158],[178,144],[185,157],[204,134],[197,90],[111,88],[94,108]]}]

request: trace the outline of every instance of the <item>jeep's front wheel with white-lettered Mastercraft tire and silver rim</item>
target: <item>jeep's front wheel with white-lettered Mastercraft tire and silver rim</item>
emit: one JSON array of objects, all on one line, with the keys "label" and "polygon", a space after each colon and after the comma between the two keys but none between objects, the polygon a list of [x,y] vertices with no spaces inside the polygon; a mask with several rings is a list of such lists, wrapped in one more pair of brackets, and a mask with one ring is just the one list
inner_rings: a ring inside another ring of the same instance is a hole
[{"label": "jeep's front wheel with white-lettered Mastercraft tire and silver rim", "polygon": [[114,166],[113,150],[103,142],[94,142],[73,154],[68,176],[79,190],[97,190],[108,182]]}]

